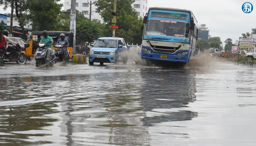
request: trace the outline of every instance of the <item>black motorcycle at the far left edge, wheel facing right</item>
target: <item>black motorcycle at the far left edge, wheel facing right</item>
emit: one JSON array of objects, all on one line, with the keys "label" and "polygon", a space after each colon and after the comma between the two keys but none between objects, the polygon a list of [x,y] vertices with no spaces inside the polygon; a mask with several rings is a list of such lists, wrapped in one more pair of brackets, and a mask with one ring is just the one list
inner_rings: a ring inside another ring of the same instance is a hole
[{"label": "black motorcycle at the far left edge, wheel facing right", "polygon": [[21,47],[18,43],[16,45],[8,45],[5,50],[0,50],[0,58],[1,65],[3,65],[4,62],[12,61],[16,61],[18,65],[23,65],[27,62],[27,56],[21,53]]}]

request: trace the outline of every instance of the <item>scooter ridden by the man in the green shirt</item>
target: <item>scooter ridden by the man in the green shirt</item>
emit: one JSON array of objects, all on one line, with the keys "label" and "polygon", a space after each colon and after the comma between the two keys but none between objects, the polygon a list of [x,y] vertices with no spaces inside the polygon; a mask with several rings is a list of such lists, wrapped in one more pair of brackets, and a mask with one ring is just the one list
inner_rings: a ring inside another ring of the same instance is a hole
[{"label": "scooter ridden by the man in the green shirt", "polygon": [[[48,43],[51,43],[51,42],[49,41]],[[46,65],[46,66],[49,65],[50,67],[53,67],[54,59],[56,58],[55,51],[52,50],[50,52],[47,52],[46,46],[48,46],[47,45],[48,43],[44,43],[44,42],[39,43],[39,47],[35,51],[35,55],[34,55],[36,67],[41,66],[41,65]],[[49,61],[46,61],[46,53],[50,53]]]}]

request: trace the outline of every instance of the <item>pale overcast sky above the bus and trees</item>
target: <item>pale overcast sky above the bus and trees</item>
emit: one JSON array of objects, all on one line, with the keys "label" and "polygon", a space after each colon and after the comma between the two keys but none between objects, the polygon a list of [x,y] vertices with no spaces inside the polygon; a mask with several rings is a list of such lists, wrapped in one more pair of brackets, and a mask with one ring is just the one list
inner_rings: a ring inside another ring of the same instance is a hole
[{"label": "pale overcast sky above the bus and trees", "polygon": [[[255,6],[249,14],[242,11],[242,4],[245,2]],[[252,28],[256,28],[256,0],[148,0],[148,7],[189,9],[198,24],[206,24],[211,37],[220,37],[222,42],[231,38],[235,43],[242,33],[251,32]],[[0,13],[10,11],[10,8],[4,11],[3,7],[0,7]]]}]

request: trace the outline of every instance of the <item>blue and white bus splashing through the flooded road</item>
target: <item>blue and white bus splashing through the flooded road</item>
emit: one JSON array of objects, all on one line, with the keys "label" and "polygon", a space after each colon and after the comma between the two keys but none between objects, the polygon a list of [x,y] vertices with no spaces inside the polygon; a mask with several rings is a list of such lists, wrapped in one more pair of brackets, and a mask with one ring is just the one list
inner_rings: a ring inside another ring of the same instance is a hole
[{"label": "blue and white bus splashing through the flooded road", "polygon": [[192,11],[153,7],[143,23],[141,58],[186,64],[195,55],[198,29]]}]

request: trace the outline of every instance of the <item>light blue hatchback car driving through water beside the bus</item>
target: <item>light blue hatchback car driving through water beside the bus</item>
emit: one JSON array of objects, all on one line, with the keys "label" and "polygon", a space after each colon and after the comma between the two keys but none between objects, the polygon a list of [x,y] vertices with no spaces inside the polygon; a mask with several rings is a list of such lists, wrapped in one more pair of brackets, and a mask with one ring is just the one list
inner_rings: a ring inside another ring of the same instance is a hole
[{"label": "light blue hatchback car driving through water beside the bus", "polygon": [[98,38],[89,53],[89,65],[94,62],[99,62],[101,65],[104,63],[123,62],[127,64],[128,47],[125,45],[123,38],[104,37]]}]

